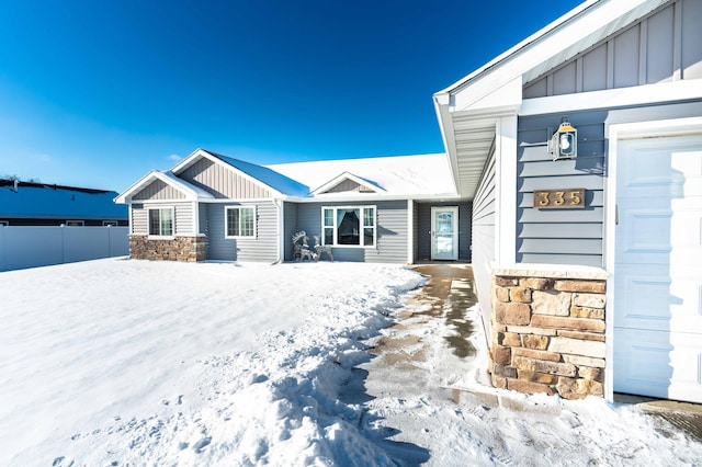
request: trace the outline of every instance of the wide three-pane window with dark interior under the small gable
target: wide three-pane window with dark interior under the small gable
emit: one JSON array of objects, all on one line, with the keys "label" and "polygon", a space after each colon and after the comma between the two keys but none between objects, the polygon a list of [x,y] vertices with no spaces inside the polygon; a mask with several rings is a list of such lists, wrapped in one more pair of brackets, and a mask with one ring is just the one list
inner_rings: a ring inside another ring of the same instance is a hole
[{"label": "wide three-pane window with dark interior under the small gable", "polygon": [[375,246],[375,206],[322,207],[324,244]]}]

